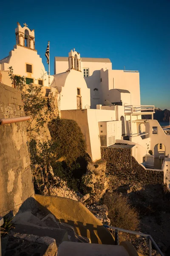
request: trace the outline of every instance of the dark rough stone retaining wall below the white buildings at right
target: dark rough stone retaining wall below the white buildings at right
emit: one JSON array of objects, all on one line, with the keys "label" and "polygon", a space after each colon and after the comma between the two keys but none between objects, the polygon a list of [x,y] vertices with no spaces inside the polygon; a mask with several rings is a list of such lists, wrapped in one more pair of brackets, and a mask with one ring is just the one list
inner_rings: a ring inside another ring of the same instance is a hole
[{"label": "dark rough stone retaining wall below the white buildings at right", "polygon": [[131,148],[101,147],[102,158],[107,162],[107,171],[124,180],[124,184],[139,182],[142,185],[163,184],[164,172],[145,170],[131,155]]}]

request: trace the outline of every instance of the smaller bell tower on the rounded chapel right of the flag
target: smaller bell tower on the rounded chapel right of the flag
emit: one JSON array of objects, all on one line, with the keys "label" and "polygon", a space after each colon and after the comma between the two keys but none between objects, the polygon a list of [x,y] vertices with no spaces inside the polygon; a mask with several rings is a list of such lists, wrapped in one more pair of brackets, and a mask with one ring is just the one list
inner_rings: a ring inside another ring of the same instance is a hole
[{"label": "smaller bell tower on the rounded chapel right of the flag", "polygon": [[77,70],[81,72],[81,58],[79,52],[76,52],[71,49],[71,51],[68,53],[68,70]]}]

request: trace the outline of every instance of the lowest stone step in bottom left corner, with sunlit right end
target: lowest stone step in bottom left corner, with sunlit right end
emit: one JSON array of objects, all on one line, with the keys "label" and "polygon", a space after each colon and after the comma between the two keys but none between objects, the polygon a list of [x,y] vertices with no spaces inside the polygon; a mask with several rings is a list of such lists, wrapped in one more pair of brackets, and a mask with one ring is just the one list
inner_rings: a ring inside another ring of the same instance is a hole
[{"label": "lowest stone step in bottom left corner, with sunlit right end", "polygon": [[48,236],[34,236],[11,232],[4,247],[2,238],[2,256],[56,256],[57,245],[55,239]]}]

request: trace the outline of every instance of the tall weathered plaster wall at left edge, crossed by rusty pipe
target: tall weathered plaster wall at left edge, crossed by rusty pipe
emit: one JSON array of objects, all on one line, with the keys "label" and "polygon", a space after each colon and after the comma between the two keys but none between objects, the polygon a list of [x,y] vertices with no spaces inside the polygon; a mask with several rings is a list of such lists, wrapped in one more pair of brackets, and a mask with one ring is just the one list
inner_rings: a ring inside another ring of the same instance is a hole
[{"label": "tall weathered plaster wall at left edge, crossed by rusty pipe", "polygon": [[[0,118],[25,116],[21,92],[0,84]],[[34,194],[26,145],[26,121],[0,125],[0,215]],[[15,207],[14,207],[15,206]]]}]

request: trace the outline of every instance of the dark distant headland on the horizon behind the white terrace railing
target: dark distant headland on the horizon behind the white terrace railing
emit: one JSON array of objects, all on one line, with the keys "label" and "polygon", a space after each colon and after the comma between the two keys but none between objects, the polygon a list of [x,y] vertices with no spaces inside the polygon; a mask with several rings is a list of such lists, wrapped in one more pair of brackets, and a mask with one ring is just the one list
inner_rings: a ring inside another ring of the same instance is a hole
[{"label": "dark distant headland on the horizon behind the white terrace railing", "polygon": [[[169,122],[170,121],[170,110],[160,108],[155,108],[155,114],[153,114],[153,118],[158,120],[159,122]],[[151,119],[150,115],[142,115],[142,119]]]}]

